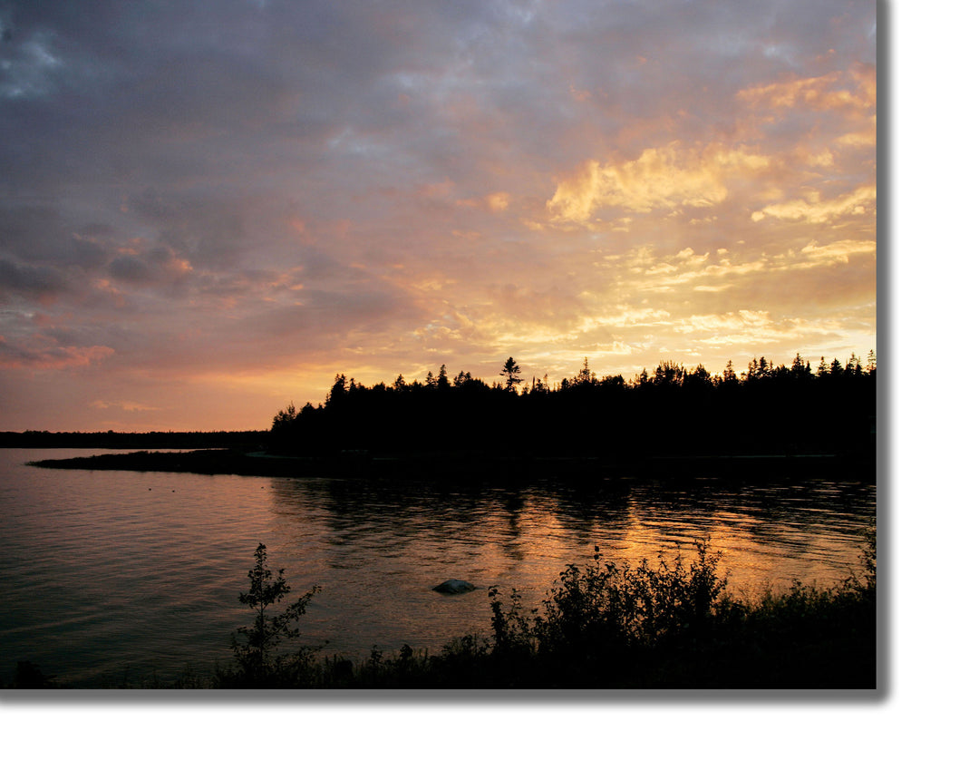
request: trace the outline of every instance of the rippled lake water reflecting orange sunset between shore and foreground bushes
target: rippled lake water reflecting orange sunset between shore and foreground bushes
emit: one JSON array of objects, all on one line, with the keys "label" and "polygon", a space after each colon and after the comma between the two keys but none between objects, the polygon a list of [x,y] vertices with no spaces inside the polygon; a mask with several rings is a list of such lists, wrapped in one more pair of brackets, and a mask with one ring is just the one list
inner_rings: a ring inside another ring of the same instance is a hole
[{"label": "rippled lake water reflecting orange sunset between shore and foreground bushes", "polygon": [[[487,633],[489,586],[533,605],[595,545],[635,563],[710,537],[735,592],[829,585],[859,571],[876,496],[826,479],[459,487],[23,465],[83,454],[96,453],[0,449],[4,681],[18,660],[74,687],[210,673],[250,621],[238,595],[259,541],[293,598],[323,586],[303,639],[363,659],[374,645],[434,652]],[[481,590],[431,590],[447,578]]]}]

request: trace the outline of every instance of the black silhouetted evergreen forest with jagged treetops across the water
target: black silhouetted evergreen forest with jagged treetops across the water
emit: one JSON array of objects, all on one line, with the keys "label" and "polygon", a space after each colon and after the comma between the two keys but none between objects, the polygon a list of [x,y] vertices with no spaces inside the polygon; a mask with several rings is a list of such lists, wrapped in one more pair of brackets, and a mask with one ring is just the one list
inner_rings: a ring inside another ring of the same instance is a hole
[{"label": "black silhouetted evergreen forest with jagged treetops across the water", "polygon": [[512,357],[486,382],[443,364],[425,380],[367,386],[337,374],[322,404],[272,420],[273,448],[307,455],[460,453],[631,456],[872,453],[876,357],[731,361],[712,374],[660,361],[626,379],[587,359],[559,383],[528,380]]}]

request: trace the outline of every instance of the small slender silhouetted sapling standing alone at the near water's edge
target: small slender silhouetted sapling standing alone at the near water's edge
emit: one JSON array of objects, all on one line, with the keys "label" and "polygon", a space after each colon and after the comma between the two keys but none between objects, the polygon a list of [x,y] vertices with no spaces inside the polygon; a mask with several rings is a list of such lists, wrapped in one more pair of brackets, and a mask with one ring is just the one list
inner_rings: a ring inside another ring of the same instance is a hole
[{"label": "small slender silhouetted sapling standing alone at the near water's edge", "polygon": [[255,567],[248,573],[251,589],[238,597],[239,602],[248,604],[256,611],[255,622],[238,629],[238,634],[245,638],[244,642],[235,638],[231,640],[231,649],[240,669],[238,678],[243,684],[251,686],[283,685],[294,669],[308,661],[310,650],[306,648],[287,654],[273,653],[282,642],[300,635],[300,630],[291,624],[299,620],[313,596],[320,591],[319,586],[313,586],[283,612],[273,614],[272,609],[285,599],[292,588],[286,582],[285,569],[280,569],[273,579],[267,559],[265,546],[259,543],[255,551]]}]

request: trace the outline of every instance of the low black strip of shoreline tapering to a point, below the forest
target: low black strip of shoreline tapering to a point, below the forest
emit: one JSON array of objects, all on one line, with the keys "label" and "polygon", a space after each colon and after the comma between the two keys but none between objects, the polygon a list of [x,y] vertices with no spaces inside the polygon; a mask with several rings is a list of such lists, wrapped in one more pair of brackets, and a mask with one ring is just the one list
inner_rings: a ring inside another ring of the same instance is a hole
[{"label": "low black strip of shoreline tapering to a point, below the forest", "polygon": [[273,455],[265,451],[209,449],[189,452],[132,452],[92,457],[39,459],[44,468],[163,471],[273,477],[489,478],[673,476],[755,477],[759,475],[872,479],[874,458],[841,455],[731,455],[671,457],[539,457],[469,451],[372,455],[338,452],[326,457]]}]

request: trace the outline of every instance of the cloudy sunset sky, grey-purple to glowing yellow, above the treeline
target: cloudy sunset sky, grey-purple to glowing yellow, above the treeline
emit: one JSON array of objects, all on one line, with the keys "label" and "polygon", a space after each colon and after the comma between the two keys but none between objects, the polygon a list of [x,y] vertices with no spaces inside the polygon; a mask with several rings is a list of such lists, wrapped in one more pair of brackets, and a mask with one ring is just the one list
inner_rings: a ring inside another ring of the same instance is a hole
[{"label": "cloudy sunset sky, grey-purple to glowing yellow, above the treeline", "polygon": [[866,361],[875,13],[0,0],[0,430]]}]

